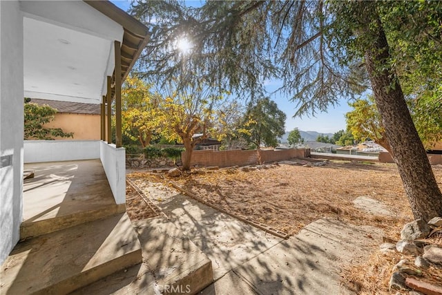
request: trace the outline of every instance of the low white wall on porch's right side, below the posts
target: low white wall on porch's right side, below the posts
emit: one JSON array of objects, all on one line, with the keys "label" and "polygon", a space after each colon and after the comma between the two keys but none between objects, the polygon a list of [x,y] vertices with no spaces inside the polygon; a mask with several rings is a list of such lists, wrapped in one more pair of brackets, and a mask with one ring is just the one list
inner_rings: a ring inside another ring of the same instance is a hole
[{"label": "low white wall on porch's right side, below the posts", "polygon": [[101,142],[100,159],[117,204],[126,202],[126,149]]}]

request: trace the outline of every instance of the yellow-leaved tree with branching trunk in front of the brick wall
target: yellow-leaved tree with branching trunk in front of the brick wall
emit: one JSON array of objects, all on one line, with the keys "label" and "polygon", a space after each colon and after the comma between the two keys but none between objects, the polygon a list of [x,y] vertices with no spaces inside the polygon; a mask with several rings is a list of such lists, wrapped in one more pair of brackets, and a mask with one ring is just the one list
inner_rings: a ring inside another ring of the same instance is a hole
[{"label": "yellow-leaved tree with branching trunk in front of the brick wall", "polygon": [[[212,95],[209,87],[202,82],[189,84],[179,91],[177,84],[169,82],[164,91],[158,116],[159,130],[167,140],[184,144],[182,169],[189,171],[193,149],[207,137],[222,95]],[[202,136],[194,137],[195,133],[202,133]]]}]

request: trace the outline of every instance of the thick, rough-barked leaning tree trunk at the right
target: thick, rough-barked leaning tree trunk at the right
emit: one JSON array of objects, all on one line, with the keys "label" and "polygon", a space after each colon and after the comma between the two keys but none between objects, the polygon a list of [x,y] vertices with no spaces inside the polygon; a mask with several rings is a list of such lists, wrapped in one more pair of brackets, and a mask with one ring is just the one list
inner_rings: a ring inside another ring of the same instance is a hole
[{"label": "thick, rough-barked leaning tree trunk at the right", "polygon": [[389,66],[389,47],[381,20],[376,12],[370,17],[378,26],[376,30],[369,28],[367,22],[363,32],[373,38],[372,46],[365,52],[365,66],[372,83],[376,106],[381,114],[385,135],[394,154],[414,218],[427,221],[434,216],[442,216],[442,193],[414,127],[396,72]]}]

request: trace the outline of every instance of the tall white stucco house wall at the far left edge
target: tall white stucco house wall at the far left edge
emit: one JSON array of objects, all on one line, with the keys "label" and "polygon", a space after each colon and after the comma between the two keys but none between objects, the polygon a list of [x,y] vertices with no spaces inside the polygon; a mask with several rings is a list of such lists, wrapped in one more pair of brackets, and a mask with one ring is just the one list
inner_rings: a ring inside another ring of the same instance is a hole
[{"label": "tall white stucco house wall at the far left edge", "polygon": [[0,1],[0,265],[20,238],[23,209],[23,16]]}]

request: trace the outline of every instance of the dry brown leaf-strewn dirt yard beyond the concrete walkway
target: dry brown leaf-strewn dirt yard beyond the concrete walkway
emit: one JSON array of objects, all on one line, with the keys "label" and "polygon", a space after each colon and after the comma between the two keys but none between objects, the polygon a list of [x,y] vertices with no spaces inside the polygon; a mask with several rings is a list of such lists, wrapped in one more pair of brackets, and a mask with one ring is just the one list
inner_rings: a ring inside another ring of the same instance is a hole
[{"label": "dry brown leaf-strewn dirt yard beyond the concrete walkway", "polygon": [[[401,178],[394,164],[327,162],[324,166],[280,164],[271,169],[199,169],[181,178],[136,172],[128,176],[139,187],[174,181],[206,201],[252,220],[296,234],[302,227],[332,216],[355,224],[374,225],[398,238],[412,220]],[[442,187],[442,166],[433,167]],[[198,172],[198,173],[195,173]],[[356,209],[353,200],[367,196],[390,207],[393,216],[374,216]]]}]

